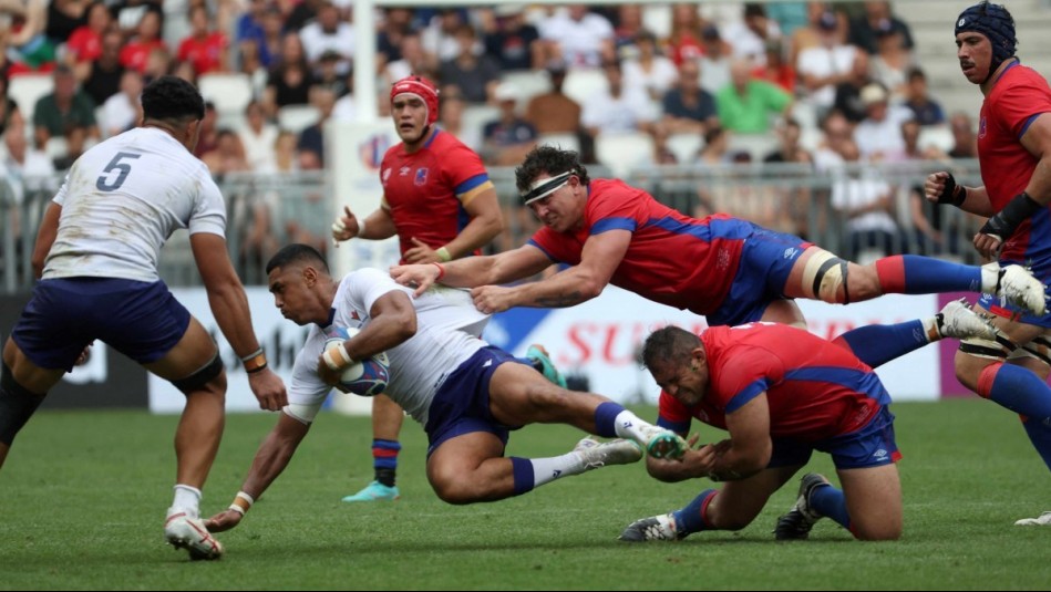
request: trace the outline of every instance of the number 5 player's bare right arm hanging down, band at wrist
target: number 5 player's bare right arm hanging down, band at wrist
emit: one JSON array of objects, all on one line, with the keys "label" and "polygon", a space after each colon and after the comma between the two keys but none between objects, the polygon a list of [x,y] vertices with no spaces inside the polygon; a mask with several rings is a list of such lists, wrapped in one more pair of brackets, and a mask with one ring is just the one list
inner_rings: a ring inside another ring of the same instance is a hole
[{"label": "number 5 player's bare right arm hanging down, band at wrist", "polygon": [[[189,245],[219,330],[239,357],[250,359],[261,350],[251,328],[248,297],[234,271],[226,250],[226,239],[210,232],[195,232],[189,236]],[[259,401],[260,408],[278,411],[288,405],[285,383],[269,367],[249,373],[248,385]]]}]

